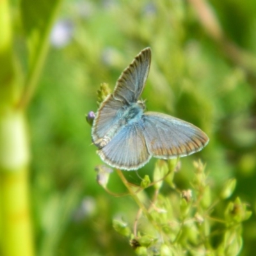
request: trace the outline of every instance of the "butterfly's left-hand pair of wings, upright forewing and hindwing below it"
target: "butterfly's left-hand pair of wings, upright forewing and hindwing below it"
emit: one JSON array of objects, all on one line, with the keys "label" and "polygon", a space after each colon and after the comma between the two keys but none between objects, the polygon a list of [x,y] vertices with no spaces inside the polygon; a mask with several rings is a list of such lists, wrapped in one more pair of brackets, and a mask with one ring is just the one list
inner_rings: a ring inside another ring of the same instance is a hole
[{"label": "butterfly's left-hand pair of wings, upright forewing and hindwing below it", "polygon": [[138,100],[148,77],[150,61],[151,50],[145,48],[121,74],[113,94],[102,102],[97,111],[92,128],[93,143],[108,134],[119,121],[122,110]]}]

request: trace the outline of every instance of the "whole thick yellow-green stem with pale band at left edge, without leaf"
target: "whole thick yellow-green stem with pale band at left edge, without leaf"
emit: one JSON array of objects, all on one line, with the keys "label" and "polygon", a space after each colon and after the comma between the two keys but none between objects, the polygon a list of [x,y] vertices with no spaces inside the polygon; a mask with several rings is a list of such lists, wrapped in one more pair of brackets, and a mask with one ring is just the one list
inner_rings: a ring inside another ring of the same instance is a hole
[{"label": "whole thick yellow-green stem with pale band at left edge, without leaf", "polygon": [[0,1],[0,254],[32,256],[28,134],[24,113],[13,109],[19,86],[10,13],[8,1]]}]

